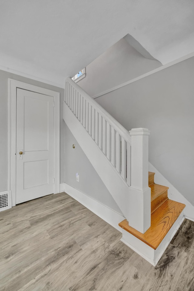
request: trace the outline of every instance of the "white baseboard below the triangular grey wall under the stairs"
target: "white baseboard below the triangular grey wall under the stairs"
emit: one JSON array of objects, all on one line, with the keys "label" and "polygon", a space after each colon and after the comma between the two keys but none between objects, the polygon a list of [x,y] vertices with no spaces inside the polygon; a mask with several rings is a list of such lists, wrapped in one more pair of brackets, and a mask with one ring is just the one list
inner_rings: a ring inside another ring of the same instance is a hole
[{"label": "white baseboard below the triangular grey wall under the stairs", "polygon": [[109,223],[115,229],[122,232],[122,229],[119,227],[118,224],[125,218],[120,213],[110,209],[109,207],[92,199],[91,197],[73,188],[72,186],[69,186],[66,183],[60,184],[60,193],[61,192],[66,192],[69,196],[71,196],[72,198],[80,202],[82,205],[87,207],[89,210],[94,212],[96,215],[102,218],[105,222]]}]

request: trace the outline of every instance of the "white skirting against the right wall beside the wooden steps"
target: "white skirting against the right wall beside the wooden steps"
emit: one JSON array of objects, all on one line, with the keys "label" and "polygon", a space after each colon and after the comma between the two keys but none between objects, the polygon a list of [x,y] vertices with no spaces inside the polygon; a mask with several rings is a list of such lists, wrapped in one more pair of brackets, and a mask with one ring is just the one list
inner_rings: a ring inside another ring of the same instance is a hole
[{"label": "white skirting against the right wall beside the wooden steps", "polygon": [[154,182],[156,184],[169,187],[168,198],[186,205],[184,209],[185,218],[194,221],[194,206],[174,187],[172,184],[162,176],[162,174],[149,163],[149,171],[155,172]]}]

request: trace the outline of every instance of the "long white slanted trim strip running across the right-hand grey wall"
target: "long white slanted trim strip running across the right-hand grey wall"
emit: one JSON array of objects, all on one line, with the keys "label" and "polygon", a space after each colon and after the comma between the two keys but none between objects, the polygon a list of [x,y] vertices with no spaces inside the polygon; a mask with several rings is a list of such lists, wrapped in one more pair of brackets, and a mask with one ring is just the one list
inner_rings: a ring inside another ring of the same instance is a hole
[{"label": "long white slanted trim strip running across the right-hand grey wall", "polygon": [[129,84],[131,84],[131,83],[133,83],[133,82],[135,82],[135,81],[138,81],[138,80],[140,80],[140,79],[143,79],[143,78],[145,78],[145,77],[147,77],[147,76],[149,76],[149,75],[152,75],[152,74],[154,74],[154,73],[156,73],[156,72],[162,71],[162,70],[164,70],[164,69],[166,69],[166,68],[168,68],[168,67],[171,67],[171,66],[173,66],[173,65],[176,65],[176,64],[178,64],[178,63],[180,63],[180,62],[182,62],[182,61],[185,61],[185,60],[187,60],[187,59],[190,59],[190,58],[192,58],[192,57],[194,57],[194,52],[192,52],[192,53],[190,53],[189,55],[186,55],[186,56],[184,56],[184,57],[182,57],[182,58],[180,58],[180,59],[177,59],[177,60],[175,60],[175,61],[172,61],[172,62],[170,62],[170,63],[168,63],[168,64],[166,64],[166,65],[162,65],[162,66],[160,66],[160,67],[158,67],[158,68],[156,68],[156,69],[154,69],[154,70],[152,70],[152,71],[150,71],[150,72],[147,72],[147,73],[145,73],[145,74],[143,74],[143,75],[141,75],[141,76],[139,76],[139,77],[136,77],[136,78],[131,79],[131,80],[125,82],[125,83],[122,83],[122,84],[117,85],[117,86],[115,86],[115,87],[113,87],[113,88],[111,88],[111,89],[108,89],[108,90],[106,90],[106,91],[104,91],[104,92],[101,92],[101,93],[99,93],[99,94],[93,96],[92,98],[95,99],[95,98],[97,98],[97,97],[103,96],[103,95],[105,95],[105,94],[107,94],[107,93],[109,93],[109,92],[115,91],[115,90],[117,90],[117,89],[119,89],[119,88],[121,88],[121,87],[124,87],[124,86],[126,86],[126,85],[129,85]]}]

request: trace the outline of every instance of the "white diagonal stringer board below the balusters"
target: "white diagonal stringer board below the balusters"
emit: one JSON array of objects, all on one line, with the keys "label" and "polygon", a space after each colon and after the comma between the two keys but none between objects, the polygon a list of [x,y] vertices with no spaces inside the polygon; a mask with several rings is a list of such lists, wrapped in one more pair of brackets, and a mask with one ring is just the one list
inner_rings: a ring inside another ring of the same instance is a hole
[{"label": "white diagonal stringer board below the balusters", "polygon": [[123,215],[127,217],[129,213],[129,186],[65,102],[63,102],[63,119]]}]

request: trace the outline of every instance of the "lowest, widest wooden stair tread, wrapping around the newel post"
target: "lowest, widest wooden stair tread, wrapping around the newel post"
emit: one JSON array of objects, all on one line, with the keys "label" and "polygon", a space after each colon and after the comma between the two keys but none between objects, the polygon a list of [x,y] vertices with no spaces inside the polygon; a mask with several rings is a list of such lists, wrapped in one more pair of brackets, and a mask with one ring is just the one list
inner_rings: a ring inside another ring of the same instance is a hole
[{"label": "lowest, widest wooden stair tread, wrapping around the newel post", "polygon": [[185,204],[168,199],[152,213],[151,226],[144,234],[129,226],[126,219],[119,226],[151,248],[157,249],[184,208]]}]

